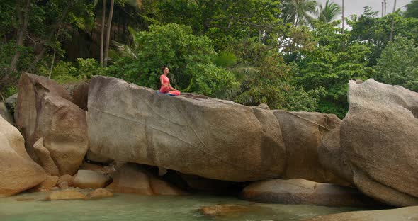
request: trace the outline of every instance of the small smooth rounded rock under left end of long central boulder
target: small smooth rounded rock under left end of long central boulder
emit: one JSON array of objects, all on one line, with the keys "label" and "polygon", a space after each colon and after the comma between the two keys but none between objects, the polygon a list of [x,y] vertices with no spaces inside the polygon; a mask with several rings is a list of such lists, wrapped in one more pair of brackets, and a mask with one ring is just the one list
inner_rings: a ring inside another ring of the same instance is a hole
[{"label": "small smooth rounded rock under left end of long central boulder", "polygon": [[96,171],[79,170],[74,176],[74,186],[79,188],[103,188],[111,181],[108,176]]}]

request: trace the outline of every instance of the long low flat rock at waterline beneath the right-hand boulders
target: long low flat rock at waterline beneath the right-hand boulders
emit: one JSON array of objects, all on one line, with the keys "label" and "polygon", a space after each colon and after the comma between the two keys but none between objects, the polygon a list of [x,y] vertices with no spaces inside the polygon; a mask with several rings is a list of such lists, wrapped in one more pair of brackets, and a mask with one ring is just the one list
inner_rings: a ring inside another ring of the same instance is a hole
[{"label": "long low flat rock at waterline beneath the right-hand boulders", "polygon": [[241,198],[260,203],[351,207],[378,205],[355,188],[305,179],[257,181],[244,188]]}]

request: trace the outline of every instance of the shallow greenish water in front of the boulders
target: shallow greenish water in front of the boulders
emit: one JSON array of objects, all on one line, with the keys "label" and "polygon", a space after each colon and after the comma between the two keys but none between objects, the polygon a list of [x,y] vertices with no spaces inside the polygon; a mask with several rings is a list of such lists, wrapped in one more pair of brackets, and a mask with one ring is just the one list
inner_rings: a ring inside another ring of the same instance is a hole
[{"label": "shallow greenish water in front of the boulders", "polygon": [[[115,194],[113,198],[91,201],[43,201],[45,196],[47,196],[46,193],[23,193],[9,198],[0,198],[0,220],[304,220],[317,215],[361,210],[361,208],[252,203],[233,197],[206,195]],[[201,206],[220,203],[250,205],[258,209],[223,217],[211,217],[198,212]]]}]

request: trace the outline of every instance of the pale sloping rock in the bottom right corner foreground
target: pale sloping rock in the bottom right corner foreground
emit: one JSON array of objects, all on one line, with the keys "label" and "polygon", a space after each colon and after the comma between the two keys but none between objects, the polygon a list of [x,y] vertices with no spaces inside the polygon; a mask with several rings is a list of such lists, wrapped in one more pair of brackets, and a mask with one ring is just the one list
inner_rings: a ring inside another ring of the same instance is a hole
[{"label": "pale sloping rock in the bottom right corner foreground", "polygon": [[305,221],[411,221],[418,220],[418,206],[392,210],[342,212],[315,217]]}]

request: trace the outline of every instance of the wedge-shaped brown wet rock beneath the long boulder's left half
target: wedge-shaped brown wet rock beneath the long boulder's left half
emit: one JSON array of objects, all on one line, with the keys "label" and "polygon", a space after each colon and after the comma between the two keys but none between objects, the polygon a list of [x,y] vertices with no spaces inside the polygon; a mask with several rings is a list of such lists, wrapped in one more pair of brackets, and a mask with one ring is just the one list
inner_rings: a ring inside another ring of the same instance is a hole
[{"label": "wedge-shaped brown wet rock beneath the long boulder's left half", "polygon": [[124,164],[111,175],[113,182],[106,189],[114,193],[140,195],[184,195],[186,192],[171,186],[137,164]]}]

